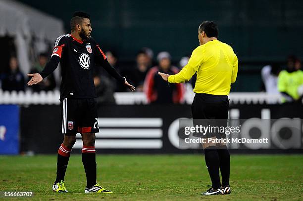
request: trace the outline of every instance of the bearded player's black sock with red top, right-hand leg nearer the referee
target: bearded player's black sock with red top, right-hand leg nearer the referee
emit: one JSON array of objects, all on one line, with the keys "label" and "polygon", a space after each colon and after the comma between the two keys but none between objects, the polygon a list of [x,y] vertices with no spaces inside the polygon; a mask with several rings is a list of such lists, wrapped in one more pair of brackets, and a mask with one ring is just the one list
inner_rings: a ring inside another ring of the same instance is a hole
[{"label": "bearded player's black sock with red top, right-hand leg nearer the referee", "polygon": [[82,147],[82,162],[86,174],[86,188],[90,188],[96,184],[97,180],[96,150],[94,146]]}]

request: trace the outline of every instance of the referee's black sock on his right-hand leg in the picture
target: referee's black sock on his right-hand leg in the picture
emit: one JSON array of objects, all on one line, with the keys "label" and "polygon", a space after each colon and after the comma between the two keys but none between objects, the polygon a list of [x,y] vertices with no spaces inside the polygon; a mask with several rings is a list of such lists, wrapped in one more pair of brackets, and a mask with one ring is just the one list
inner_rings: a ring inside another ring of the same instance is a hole
[{"label": "referee's black sock on his right-hand leg in the picture", "polygon": [[217,148],[217,152],[220,159],[220,171],[222,176],[222,186],[229,185],[229,164],[230,155],[226,145]]}]

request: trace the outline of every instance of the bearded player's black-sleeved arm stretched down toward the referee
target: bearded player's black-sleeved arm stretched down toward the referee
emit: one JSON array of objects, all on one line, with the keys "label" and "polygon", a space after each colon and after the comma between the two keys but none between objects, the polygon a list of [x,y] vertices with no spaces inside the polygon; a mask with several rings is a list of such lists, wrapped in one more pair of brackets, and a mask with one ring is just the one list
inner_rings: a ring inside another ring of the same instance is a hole
[{"label": "bearded player's black-sleeved arm stretched down toward the referee", "polygon": [[95,48],[96,63],[100,64],[105,69],[105,71],[107,71],[109,75],[118,80],[118,82],[120,82],[121,84],[125,84],[131,91],[135,91],[136,88],[133,85],[129,84],[126,78],[120,76],[118,72],[108,63],[105,54],[103,53],[98,44],[96,44]]}]

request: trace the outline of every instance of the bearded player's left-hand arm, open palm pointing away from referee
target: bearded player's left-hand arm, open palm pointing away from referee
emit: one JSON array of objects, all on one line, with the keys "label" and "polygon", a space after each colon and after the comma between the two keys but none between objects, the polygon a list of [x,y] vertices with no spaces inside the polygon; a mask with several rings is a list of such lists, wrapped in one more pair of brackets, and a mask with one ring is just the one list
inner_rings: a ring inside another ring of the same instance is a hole
[{"label": "bearded player's left-hand arm, open palm pointing away from referee", "polygon": [[65,40],[61,37],[58,41],[56,41],[55,47],[53,48],[50,56],[50,61],[46,64],[44,69],[40,73],[27,74],[29,77],[32,77],[31,80],[27,82],[27,85],[31,86],[33,84],[38,84],[58,67],[64,46]]}]

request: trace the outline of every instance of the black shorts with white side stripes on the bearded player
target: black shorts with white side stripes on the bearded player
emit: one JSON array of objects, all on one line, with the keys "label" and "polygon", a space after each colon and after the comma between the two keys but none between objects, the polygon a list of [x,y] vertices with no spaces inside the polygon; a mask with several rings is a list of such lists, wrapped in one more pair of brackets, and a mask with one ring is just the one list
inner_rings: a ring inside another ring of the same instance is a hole
[{"label": "black shorts with white side stripes on the bearded player", "polygon": [[62,134],[75,135],[78,132],[99,132],[97,102],[95,98],[63,98],[60,102]]}]

